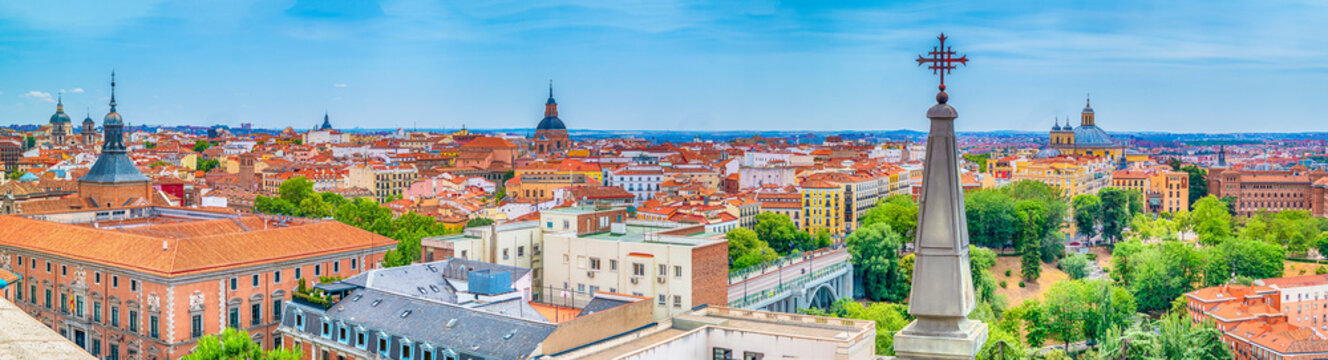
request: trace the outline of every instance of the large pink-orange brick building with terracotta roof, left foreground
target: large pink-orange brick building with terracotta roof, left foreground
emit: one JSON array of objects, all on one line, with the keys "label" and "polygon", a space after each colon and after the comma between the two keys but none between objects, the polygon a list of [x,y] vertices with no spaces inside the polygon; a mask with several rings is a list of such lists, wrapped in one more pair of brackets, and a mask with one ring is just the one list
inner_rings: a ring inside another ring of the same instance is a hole
[{"label": "large pink-orange brick building with terracotta roof, left foreground", "polygon": [[101,359],[179,359],[240,328],[272,348],[300,279],[376,267],[396,240],[332,221],[179,207],[0,217],[9,300]]}]

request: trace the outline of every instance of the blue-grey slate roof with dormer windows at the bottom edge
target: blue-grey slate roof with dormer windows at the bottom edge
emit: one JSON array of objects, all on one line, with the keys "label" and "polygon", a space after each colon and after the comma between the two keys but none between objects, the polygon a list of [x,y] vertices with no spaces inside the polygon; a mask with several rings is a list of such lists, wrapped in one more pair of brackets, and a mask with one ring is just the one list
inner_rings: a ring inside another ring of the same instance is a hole
[{"label": "blue-grey slate roof with dormer windows at the bottom edge", "polygon": [[[357,295],[363,296],[355,300]],[[381,302],[374,306],[377,300]],[[402,317],[406,311],[410,314]],[[377,290],[351,292],[329,308],[327,316],[385,331],[393,336],[406,336],[416,343],[491,359],[523,359],[556,329],[556,325],[550,323],[514,319]],[[448,328],[452,320],[456,323]]]}]

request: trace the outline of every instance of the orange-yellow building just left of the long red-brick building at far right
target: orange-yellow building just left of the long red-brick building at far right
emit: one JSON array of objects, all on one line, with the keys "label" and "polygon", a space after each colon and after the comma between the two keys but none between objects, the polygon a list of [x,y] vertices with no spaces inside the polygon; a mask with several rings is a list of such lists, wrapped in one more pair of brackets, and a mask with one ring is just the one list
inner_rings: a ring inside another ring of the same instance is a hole
[{"label": "orange-yellow building just left of the long red-brick building at far right", "polygon": [[1147,213],[1177,213],[1190,209],[1190,173],[1165,165],[1145,169],[1116,170],[1112,186],[1139,190]]}]

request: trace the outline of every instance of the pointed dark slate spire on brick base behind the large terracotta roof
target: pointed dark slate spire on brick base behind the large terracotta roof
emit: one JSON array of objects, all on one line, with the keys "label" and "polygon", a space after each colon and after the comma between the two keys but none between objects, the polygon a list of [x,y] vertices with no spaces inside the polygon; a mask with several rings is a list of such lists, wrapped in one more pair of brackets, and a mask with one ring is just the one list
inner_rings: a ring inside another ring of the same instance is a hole
[{"label": "pointed dark slate spire on brick base behind the large terracotta roof", "polygon": [[116,112],[116,73],[110,73],[110,112],[102,118],[101,155],[78,179],[78,197],[93,207],[124,207],[150,203],[151,178],[125,150],[125,121]]}]

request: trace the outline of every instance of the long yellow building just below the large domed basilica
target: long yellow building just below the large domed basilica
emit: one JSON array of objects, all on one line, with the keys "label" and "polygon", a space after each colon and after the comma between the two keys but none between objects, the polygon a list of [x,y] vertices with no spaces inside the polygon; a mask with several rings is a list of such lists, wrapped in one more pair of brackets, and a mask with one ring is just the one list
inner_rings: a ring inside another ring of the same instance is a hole
[{"label": "long yellow building just below the large domed basilica", "polygon": [[1015,165],[1013,181],[1036,181],[1061,189],[1073,198],[1097,194],[1112,183],[1112,161],[1101,157],[1054,157],[1020,161]]}]

